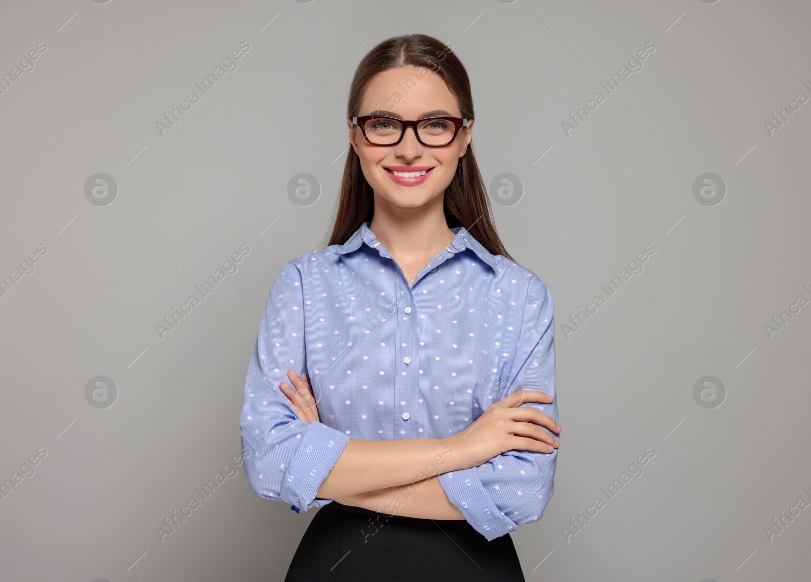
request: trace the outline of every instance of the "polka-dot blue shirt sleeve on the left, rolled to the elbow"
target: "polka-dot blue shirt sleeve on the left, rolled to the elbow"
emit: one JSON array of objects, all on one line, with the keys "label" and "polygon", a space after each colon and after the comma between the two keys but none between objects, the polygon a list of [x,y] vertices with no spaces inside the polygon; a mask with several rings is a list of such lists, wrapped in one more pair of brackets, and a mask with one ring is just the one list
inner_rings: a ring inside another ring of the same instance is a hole
[{"label": "polka-dot blue shirt sleeve on the left, rolled to the elbow", "polygon": [[[279,384],[287,371],[307,371],[302,277],[293,261],[279,269],[260,321],[245,379],[242,455],[248,485],[265,499],[290,503],[296,513],[333,499],[315,499],[341,456],[348,434],[298,418]],[[309,374],[308,374],[309,375]]]}]

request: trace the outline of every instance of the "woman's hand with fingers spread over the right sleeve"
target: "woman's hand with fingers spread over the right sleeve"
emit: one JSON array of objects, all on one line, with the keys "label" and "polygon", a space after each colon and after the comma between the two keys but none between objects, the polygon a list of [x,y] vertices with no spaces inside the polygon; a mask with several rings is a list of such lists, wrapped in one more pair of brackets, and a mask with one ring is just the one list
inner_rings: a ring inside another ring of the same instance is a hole
[{"label": "woman's hand with fingers spread over the right sleeve", "polygon": [[560,443],[541,426],[560,433],[555,419],[529,406],[520,406],[525,402],[551,401],[552,397],[543,392],[517,390],[487,407],[465,430],[447,437],[448,446],[460,451],[470,467],[478,467],[507,451],[554,451]]}]

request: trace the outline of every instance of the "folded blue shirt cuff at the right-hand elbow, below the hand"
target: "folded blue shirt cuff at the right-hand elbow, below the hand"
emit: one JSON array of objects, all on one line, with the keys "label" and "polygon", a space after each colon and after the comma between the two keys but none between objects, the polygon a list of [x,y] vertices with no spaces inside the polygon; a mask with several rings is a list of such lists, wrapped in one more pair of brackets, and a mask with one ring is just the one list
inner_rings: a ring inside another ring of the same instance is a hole
[{"label": "folded blue shirt cuff at the right-hand elbow, below the hand", "polygon": [[440,485],[448,500],[461,511],[478,533],[487,537],[488,541],[518,529],[518,525],[504,516],[493,503],[482,481],[479,480],[475,467],[442,473]]}]

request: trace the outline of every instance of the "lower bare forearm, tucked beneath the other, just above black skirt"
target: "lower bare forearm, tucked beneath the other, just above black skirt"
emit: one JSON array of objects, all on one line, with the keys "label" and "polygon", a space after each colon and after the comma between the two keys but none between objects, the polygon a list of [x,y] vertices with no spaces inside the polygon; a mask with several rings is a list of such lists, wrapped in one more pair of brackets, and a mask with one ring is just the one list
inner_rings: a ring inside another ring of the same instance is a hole
[{"label": "lower bare forearm, tucked beneath the other, just above black skirt", "polygon": [[436,475],[407,486],[386,487],[335,499],[338,503],[380,511],[387,516],[419,517],[431,520],[464,520],[465,516],[448,500]]}]

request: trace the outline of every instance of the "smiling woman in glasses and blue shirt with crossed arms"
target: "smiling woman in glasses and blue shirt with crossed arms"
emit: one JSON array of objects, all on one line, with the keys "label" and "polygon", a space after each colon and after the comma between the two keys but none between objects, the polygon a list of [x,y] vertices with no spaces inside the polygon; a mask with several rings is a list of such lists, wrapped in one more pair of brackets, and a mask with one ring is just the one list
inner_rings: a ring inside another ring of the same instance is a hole
[{"label": "smiling woman in glasses and blue shirt with crossed arms", "polygon": [[248,482],[321,507],[285,580],[524,580],[509,533],[542,516],[559,444],[551,293],[492,225],[453,52],[380,43],[348,109],[332,238],[260,323]]}]

